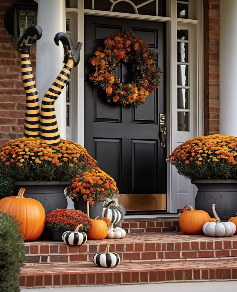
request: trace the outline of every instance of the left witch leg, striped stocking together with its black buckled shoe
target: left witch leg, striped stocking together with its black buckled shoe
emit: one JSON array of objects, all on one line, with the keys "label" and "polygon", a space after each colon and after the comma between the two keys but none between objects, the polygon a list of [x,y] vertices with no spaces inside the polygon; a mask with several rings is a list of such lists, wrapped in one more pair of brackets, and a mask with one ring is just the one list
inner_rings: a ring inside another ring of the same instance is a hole
[{"label": "left witch leg, striped stocking together with its black buckled shoe", "polygon": [[30,63],[31,45],[42,36],[42,29],[37,25],[28,26],[17,40],[16,48],[21,58],[21,77],[26,95],[24,136],[40,135],[40,105],[35,79]]}]

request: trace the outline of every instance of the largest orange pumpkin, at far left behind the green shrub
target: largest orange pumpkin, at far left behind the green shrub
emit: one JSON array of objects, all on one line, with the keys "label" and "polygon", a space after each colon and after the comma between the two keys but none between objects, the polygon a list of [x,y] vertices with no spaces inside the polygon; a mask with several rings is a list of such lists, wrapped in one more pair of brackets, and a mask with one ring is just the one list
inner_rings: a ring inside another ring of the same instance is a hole
[{"label": "largest orange pumpkin, at far left behind the green shrub", "polygon": [[16,217],[21,224],[20,230],[25,241],[36,240],[44,231],[45,211],[40,202],[24,198],[22,187],[17,197],[6,197],[0,200],[0,210]]}]

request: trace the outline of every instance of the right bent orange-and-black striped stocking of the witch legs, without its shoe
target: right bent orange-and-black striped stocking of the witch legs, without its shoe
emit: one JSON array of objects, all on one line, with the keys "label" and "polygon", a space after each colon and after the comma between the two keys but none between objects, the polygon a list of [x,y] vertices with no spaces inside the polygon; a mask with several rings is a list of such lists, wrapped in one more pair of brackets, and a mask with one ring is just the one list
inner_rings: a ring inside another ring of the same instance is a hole
[{"label": "right bent orange-and-black striped stocking of the witch legs, without its shoe", "polygon": [[73,68],[73,64],[73,60],[69,59],[43,97],[40,109],[40,138],[43,143],[58,144],[60,142],[54,102],[63,91],[71,73],[71,69]]}]

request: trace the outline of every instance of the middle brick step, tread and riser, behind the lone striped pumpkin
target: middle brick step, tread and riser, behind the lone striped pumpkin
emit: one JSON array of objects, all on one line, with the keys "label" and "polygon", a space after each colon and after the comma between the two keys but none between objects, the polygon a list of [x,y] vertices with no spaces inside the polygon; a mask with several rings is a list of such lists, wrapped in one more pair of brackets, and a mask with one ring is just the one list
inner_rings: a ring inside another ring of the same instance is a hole
[{"label": "middle brick step, tread and riser, behind the lone striped pumpkin", "polygon": [[97,252],[117,252],[122,262],[170,260],[188,258],[221,258],[237,256],[237,235],[210,238],[179,232],[127,234],[124,239],[88,240],[82,246],[67,246],[63,242],[25,242],[25,262],[75,263],[91,262]]}]

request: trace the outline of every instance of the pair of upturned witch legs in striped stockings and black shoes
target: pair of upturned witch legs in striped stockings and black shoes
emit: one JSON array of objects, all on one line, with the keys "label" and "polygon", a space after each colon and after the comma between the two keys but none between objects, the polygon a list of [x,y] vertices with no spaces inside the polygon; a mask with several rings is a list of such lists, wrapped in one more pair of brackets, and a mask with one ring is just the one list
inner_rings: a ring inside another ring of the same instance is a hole
[{"label": "pair of upturned witch legs in striped stockings and black shoes", "polygon": [[59,41],[63,44],[63,63],[65,63],[65,65],[54,83],[45,93],[40,109],[29,53],[31,45],[34,44],[37,39],[40,39],[41,35],[41,27],[32,25],[25,29],[23,35],[16,43],[16,48],[21,54],[21,72],[26,94],[24,136],[37,137],[40,135],[43,143],[56,145],[60,142],[60,135],[56,121],[54,102],[63,91],[66,81],[70,76],[71,69],[76,67],[80,61],[82,43],[78,43],[76,48],[74,48],[72,39],[68,34],[59,32],[55,35],[55,44],[58,46]]}]

